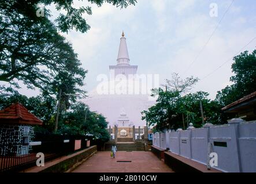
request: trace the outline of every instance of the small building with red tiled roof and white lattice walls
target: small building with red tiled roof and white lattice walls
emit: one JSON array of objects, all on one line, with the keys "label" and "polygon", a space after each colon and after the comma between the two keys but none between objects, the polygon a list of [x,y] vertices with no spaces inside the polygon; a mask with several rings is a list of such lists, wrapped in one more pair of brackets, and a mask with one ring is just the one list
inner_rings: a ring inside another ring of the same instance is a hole
[{"label": "small building with red tiled roof and white lattice walls", "polygon": [[0,156],[28,155],[29,143],[35,135],[34,125],[42,124],[42,120],[19,103],[0,110]]}]

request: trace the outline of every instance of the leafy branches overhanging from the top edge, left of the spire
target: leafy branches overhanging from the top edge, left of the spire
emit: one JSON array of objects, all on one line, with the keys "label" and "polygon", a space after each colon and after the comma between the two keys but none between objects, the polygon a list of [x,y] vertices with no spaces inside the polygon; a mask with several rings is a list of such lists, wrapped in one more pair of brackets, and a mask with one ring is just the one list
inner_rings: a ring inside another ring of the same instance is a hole
[{"label": "leafy branches overhanging from the top edge, left of the spire", "polygon": [[[128,5],[135,5],[136,0],[88,0],[92,4],[102,6],[103,3],[111,3],[113,6],[127,7]],[[16,10],[17,13],[21,14],[23,17],[27,17],[29,20],[34,20],[39,22],[42,17],[38,17],[38,10],[44,11],[44,16],[50,17],[49,9],[46,6],[55,5],[55,9],[64,13],[59,13],[58,17],[54,20],[56,22],[56,27],[61,30],[61,32],[68,32],[68,30],[76,29],[82,33],[87,32],[90,29],[90,25],[87,24],[86,18],[83,14],[86,13],[89,16],[92,14],[90,6],[82,6],[76,8],[73,6],[73,0],[9,0],[0,3],[1,9],[6,9],[7,11]],[[43,7],[43,8],[42,8]]]}]

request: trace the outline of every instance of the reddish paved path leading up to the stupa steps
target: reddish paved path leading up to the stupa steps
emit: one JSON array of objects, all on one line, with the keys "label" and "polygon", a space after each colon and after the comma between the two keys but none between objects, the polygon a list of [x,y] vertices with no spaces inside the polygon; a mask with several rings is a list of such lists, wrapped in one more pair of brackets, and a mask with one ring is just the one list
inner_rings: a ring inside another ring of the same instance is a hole
[{"label": "reddish paved path leading up to the stupa steps", "polygon": [[[131,160],[132,162],[117,162]],[[73,173],[172,173],[173,171],[149,151],[118,151],[116,158],[110,151],[97,152]]]}]

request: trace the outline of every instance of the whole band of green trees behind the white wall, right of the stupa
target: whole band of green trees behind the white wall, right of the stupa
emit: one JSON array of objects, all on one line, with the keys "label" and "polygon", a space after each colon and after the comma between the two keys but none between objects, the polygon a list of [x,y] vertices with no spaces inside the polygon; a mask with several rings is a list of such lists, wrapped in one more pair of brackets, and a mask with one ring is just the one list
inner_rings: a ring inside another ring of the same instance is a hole
[{"label": "whole band of green trees behind the white wall, right of the stupa", "polygon": [[198,79],[192,76],[181,79],[174,73],[172,79],[166,80],[165,90],[153,90],[153,95],[158,95],[157,102],[142,112],[142,119],[154,126],[154,131],[185,129],[189,122],[192,122],[194,127],[202,127],[201,102],[204,122],[227,123],[227,119],[233,115],[224,114],[221,108],[256,91],[256,50],[252,53],[240,53],[233,60],[232,71],[235,75],[230,78],[233,85],[218,91],[216,99],[209,99],[209,94],[204,91],[185,93],[190,91]]}]

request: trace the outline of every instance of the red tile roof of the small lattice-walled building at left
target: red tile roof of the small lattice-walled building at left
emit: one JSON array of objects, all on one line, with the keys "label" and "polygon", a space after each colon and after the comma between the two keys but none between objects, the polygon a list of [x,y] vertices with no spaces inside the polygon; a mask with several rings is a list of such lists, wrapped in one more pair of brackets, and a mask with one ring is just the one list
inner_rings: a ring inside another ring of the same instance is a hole
[{"label": "red tile roof of the small lattice-walled building at left", "polygon": [[42,125],[43,121],[29,113],[23,105],[16,103],[0,110],[0,123]]}]

